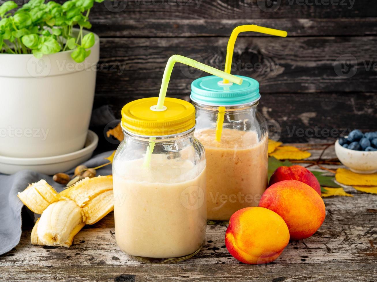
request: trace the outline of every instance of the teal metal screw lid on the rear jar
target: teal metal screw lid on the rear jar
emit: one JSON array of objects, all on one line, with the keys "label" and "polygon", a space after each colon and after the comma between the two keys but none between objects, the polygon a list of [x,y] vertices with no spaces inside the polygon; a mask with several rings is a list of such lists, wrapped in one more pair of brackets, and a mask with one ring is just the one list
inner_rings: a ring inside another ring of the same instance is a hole
[{"label": "teal metal screw lid on the rear jar", "polygon": [[204,76],[191,83],[192,101],[209,106],[237,106],[256,102],[261,99],[259,82],[251,77],[238,76],[243,79],[241,85],[223,83],[218,76]]}]

